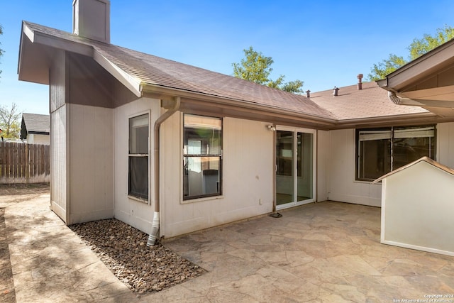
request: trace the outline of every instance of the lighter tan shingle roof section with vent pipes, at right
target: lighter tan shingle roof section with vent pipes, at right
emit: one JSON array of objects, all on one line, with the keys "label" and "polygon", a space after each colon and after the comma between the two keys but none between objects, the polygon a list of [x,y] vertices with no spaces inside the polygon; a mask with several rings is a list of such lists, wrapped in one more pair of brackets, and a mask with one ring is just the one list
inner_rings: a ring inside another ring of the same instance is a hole
[{"label": "lighter tan shingle roof section with vent pipes, at right", "polygon": [[404,114],[428,113],[418,106],[394,104],[388,99],[388,92],[375,82],[339,87],[338,96],[333,96],[333,89],[311,93],[311,100],[333,113],[337,120],[385,117]]}]

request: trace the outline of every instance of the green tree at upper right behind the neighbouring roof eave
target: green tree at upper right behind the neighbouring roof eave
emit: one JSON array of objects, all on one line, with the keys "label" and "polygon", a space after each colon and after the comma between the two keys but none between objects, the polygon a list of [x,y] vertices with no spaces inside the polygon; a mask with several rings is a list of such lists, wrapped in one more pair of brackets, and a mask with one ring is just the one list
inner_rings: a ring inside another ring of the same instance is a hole
[{"label": "green tree at upper right behind the neighbouring roof eave", "polygon": [[411,60],[415,60],[417,57],[424,55],[429,50],[433,50],[438,45],[454,38],[454,28],[451,26],[445,26],[444,28],[437,28],[435,35],[424,34],[421,39],[414,39],[413,42],[407,48],[409,50],[408,60],[405,60],[404,57],[399,57],[394,54],[389,54],[389,58],[382,60],[375,64],[370,69],[370,74],[367,77],[370,81],[377,81],[384,79],[387,75],[394,70],[397,70],[402,65],[405,65]]}]

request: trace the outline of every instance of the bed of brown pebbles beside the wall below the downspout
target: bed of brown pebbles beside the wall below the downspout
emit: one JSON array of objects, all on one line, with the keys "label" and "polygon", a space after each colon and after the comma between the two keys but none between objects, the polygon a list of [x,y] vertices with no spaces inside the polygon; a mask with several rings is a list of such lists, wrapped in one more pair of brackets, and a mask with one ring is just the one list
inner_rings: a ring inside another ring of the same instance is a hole
[{"label": "bed of brown pebbles beside the wall below the downspout", "polygon": [[121,282],[138,294],[159,292],[205,272],[161,244],[148,247],[147,234],[116,219],[70,228]]}]

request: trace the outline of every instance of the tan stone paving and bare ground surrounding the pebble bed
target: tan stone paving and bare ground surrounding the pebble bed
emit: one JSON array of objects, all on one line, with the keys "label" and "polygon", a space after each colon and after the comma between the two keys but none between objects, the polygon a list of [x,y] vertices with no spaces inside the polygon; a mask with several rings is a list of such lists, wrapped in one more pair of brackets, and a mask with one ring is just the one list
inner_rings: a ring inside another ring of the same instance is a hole
[{"label": "tan stone paving and bare ground surrounding the pebble bed", "polygon": [[338,202],[168,240],[208,272],[136,297],[49,199],[48,187],[0,187],[6,302],[454,302],[453,257],[382,245],[379,208]]}]

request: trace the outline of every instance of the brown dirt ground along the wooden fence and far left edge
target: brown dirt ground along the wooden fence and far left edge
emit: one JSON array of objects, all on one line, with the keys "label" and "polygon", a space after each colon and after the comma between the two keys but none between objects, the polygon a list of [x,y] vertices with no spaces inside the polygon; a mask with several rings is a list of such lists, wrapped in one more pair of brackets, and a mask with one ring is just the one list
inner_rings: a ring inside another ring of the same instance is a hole
[{"label": "brown dirt ground along the wooden fence and far left edge", "polygon": [[0,302],[16,302],[5,224],[6,206],[48,192],[49,184],[0,184]]}]

